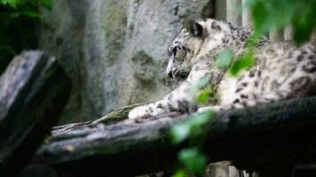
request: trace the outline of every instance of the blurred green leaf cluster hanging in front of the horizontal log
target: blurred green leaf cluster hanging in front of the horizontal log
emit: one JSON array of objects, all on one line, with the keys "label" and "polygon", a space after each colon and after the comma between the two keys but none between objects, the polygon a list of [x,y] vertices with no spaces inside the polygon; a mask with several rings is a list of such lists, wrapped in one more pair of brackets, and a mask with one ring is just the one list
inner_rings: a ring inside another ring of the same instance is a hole
[{"label": "blurred green leaf cluster hanging in front of the horizontal log", "polygon": [[[204,169],[208,164],[206,156],[201,152],[201,147],[206,141],[212,119],[212,111],[196,113],[192,116],[192,119],[172,127],[170,131],[172,143],[189,143],[189,148],[179,151],[178,160],[188,172],[197,176],[204,173]],[[188,176],[187,171],[179,170],[173,176]]]}]

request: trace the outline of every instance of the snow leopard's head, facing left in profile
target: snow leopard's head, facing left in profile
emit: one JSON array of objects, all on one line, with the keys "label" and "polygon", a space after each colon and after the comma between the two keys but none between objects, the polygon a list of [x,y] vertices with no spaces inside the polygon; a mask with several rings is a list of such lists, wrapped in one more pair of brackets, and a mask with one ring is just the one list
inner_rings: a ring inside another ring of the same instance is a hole
[{"label": "snow leopard's head, facing left in profile", "polygon": [[201,56],[211,55],[231,42],[230,24],[215,19],[187,19],[184,28],[170,43],[166,73],[177,80],[186,79]]}]

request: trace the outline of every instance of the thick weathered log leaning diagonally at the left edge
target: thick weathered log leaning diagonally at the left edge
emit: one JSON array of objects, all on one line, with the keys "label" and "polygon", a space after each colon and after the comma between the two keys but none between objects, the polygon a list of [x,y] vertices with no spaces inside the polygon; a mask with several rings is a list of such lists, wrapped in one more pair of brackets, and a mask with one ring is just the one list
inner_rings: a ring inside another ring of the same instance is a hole
[{"label": "thick weathered log leaning diagonally at the left edge", "polygon": [[43,51],[24,51],[0,78],[0,174],[19,173],[56,125],[70,81]]}]

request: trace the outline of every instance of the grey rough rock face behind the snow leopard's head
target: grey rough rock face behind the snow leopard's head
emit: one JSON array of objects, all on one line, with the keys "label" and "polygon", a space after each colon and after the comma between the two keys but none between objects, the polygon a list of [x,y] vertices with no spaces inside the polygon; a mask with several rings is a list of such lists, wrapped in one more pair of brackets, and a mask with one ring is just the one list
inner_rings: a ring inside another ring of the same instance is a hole
[{"label": "grey rough rock face behind the snow leopard's head", "polygon": [[175,86],[164,69],[182,19],[214,15],[209,0],[53,2],[38,29],[40,48],[59,58],[73,81],[60,123],[162,98]]}]

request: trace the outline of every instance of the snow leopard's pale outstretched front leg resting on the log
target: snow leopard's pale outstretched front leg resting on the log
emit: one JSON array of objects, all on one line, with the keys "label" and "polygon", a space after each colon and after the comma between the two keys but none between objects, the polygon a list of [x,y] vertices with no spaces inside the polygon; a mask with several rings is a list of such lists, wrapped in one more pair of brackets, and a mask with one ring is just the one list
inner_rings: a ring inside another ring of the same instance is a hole
[{"label": "snow leopard's pale outstretched front leg resting on the log", "polygon": [[184,81],[177,89],[161,101],[152,104],[138,106],[129,113],[130,119],[148,118],[151,116],[162,115],[168,112],[194,112],[197,105],[190,99],[190,82]]}]

